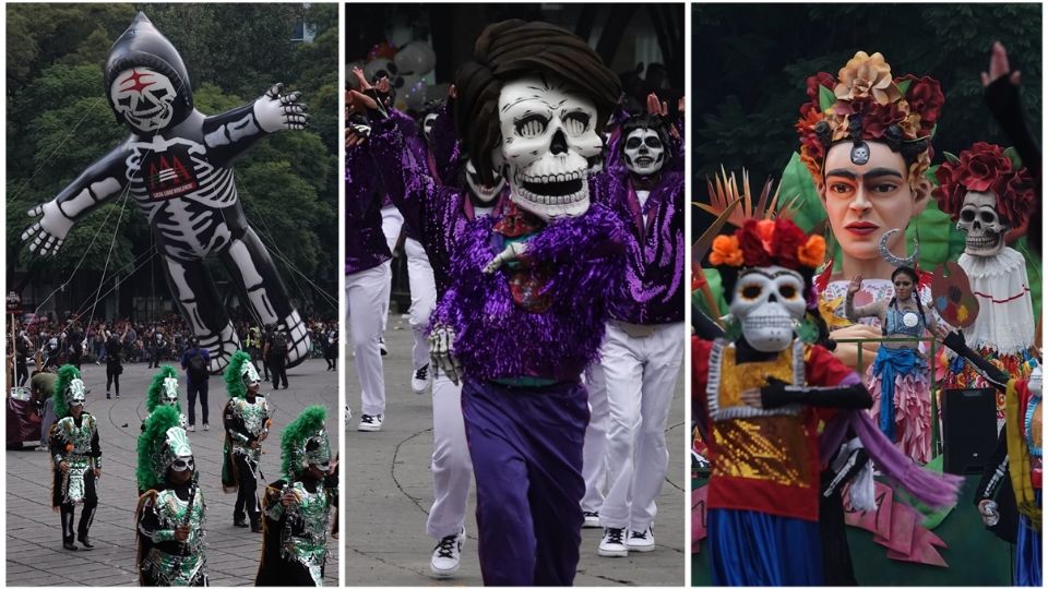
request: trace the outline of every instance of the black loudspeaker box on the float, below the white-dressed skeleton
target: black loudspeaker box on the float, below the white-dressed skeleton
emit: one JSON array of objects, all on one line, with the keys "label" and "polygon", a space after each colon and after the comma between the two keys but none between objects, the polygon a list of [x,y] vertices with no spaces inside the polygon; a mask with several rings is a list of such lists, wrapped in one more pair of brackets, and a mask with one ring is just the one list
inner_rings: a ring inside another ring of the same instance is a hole
[{"label": "black loudspeaker box on the float, below the white-dressed skeleton", "polygon": [[997,447],[997,389],[942,392],[942,470],[982,472]]}]

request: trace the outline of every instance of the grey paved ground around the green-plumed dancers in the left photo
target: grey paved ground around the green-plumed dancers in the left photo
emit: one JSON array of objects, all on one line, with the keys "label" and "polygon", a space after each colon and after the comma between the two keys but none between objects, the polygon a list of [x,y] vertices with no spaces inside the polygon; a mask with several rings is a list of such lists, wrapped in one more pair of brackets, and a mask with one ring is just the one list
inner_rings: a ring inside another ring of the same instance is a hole
[{"label": "grey paved ground around the green-plumed dancers in the left photo", "polygon": [[[135,443],[145,417],[145,390],[153,372],[145,363],[127,364],[121,376],[120,399],[106,399],[105,366],[84,364],[84,382],[91,389],[86,410],[98,419],[103,449],[99,504],[91,528],[95,550],[62,550],[58,513],[51,510],[49,454],[26,449],[7,452],[7,582],[40,585],[138,585],[134,566]],[[327,406],[327,428],[333,449],[338,446],[340,411],[337,377],[325,372],[323,360],[309,360],[288,372],[287,390],[274,392],[262,383],[262,393],[275,409],[273,435],[264,444],[262,472],[269,480],[279,478],[279,431],[307,406]],[[180,371],[181,373],[181,371]],[[184,408],[184,373],[182,404]],[[212,585],[254,585],[261,552],[261,534],[233,526],[236,494],[222,492],[222,408],[226,402],[222,378],[210,381],[209,406],[212,430],[190,434],[200,482],[207,500],[207,565]],[[199,401],[198,401],[199,404]],[[198,407],[199,409],[199,407]],[[345,469],[341,469],[345,477]],[[78,520],[81,509],[76,509]],[[338,544],[330,540],[326,581],[337,585]]]}]

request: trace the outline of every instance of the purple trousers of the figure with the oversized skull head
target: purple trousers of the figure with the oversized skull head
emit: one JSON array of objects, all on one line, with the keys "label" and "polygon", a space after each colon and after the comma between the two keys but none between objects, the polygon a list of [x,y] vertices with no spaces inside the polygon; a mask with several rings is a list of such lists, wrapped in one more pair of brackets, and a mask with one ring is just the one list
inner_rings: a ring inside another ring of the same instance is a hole
[{"label": "purple trousers of the figure with the oversized skull head", "polygon": [[512,387],[465,380],[462,416],[485,585],[572,584],[586,491],[586,397],[581,383]]}]

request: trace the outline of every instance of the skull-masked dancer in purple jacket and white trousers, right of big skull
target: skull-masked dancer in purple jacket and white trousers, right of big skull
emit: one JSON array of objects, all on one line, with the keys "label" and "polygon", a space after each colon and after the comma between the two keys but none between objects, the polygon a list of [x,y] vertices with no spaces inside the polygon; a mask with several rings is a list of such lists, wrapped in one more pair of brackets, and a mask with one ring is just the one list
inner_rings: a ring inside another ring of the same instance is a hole
[{"label": "skull-masked dancer in purple jacket and white trousers, right of big skull", "polygon": [[[597,553],[605,556],[655,548],[653,507],[669,464],[665,425],[686,340],[684,178],[667,169],[669,134],[659,117],[631,117],[619,133],[622,166],[593,182],[595,201],[627,228],[624,272],[600,347],[606,385],[588,387],[587,444],[596,436],[608,443],[606,452],[587,448],[586,471],[607,464],[609,483],[603,503],[583,509],[599,513]],[[587,501],[595,495],[587,490]]]}]

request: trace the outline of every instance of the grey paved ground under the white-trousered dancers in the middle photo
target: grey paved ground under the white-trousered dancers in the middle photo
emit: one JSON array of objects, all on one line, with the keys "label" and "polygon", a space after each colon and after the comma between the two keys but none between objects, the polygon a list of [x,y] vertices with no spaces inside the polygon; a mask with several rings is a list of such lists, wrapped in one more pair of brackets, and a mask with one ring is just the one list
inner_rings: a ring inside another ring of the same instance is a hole
[{"label": "grey paved ground under the white-trousered dancers in the middle photo", "polygon": [[[385,340],[386,413],[378,433],[357,432],[360,385],[352,352],[346,353],[346,399],[354,419],[346,432],[347,460],[343,477],[348,512],[345,534],[347,585],[479,586],[475,503],[466,518],[468,539],[457,577],[440,581],[429,576],[436,541],[426,536],[432,503],[429,464],[432,453],[432,407],[429,393],[410,389],[410,327],[406,315],[390,317]],[[582,533],[576,585],[682,585],[684,582],[684,426],[683,381],[678,380],[670,412],[667,445],[670,471],[658,498],[656,550],[626,558],[597,556],[599,529]]]}]

